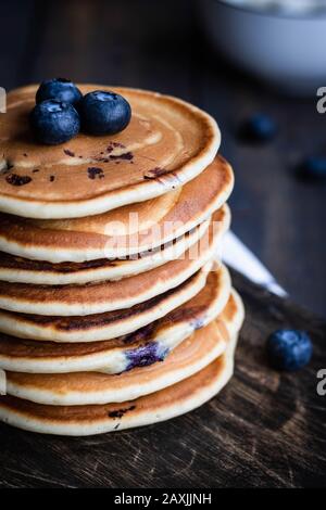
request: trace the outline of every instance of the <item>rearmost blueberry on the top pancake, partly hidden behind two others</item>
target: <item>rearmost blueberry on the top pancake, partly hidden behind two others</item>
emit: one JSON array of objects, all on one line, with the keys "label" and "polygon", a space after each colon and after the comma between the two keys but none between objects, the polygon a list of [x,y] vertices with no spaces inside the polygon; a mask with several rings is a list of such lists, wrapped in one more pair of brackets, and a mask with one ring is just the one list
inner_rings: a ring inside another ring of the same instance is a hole
[{"label": "rearmost blueberry on the top pancake, partly hidden behind two others", "polygon": [[47,99],[57,99],[57,101],[76,105],[82,98],[80,90],[70,79],[54,78],[41,82],[35,100],[36,103],[41,103]]}]

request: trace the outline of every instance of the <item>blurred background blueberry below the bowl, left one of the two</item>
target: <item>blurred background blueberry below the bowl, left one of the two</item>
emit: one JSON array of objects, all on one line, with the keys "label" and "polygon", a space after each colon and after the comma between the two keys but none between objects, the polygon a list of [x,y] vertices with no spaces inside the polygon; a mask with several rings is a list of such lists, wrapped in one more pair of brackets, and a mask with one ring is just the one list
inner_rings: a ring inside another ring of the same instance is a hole
[{"label": "blurred background blueberry below the bowl, left one of the two", "polygon": [[247,118],[239,128],[239,139],[244,142],[263,143],[276,135],[276,124],[268,115],[258,113]]}]

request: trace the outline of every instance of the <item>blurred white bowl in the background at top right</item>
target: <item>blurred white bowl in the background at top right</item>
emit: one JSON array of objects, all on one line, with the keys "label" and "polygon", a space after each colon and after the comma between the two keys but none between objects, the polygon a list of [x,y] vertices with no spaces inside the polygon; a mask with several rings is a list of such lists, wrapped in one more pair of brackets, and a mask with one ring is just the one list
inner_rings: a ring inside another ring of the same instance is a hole
[{"label": "blurred white bowl in the background at top right", "polygon": [[213,43],[231,61],[294,93],[326,86],[326,12],[297,15],[199,2]]}]

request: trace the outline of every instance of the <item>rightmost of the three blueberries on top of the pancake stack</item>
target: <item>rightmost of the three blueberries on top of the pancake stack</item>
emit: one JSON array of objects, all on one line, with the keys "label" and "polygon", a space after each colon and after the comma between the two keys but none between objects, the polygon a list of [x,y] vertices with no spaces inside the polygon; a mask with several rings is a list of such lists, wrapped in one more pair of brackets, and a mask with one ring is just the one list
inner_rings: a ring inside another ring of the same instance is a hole
[{"label": "rightmost of the three blueberries on top of the pancake stack", "polygon": [[91,135],[114,135],[127,127],[131,117],[128,101],[114,92],[95,90],[80,101],[83,129]]}]

